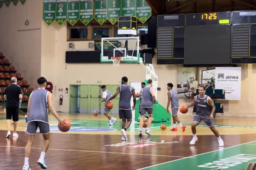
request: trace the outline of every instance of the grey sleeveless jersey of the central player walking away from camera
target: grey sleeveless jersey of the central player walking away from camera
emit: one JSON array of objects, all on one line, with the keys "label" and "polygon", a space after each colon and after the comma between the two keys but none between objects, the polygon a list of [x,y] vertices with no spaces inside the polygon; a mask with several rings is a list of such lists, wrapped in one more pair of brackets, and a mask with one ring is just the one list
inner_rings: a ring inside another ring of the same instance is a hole
[{"label": "grey sleeveless jersey of the central player walking away from camera", "polygon": [[119,109],[128,110],[131,109],[131,86],[120,85],[120,99]]}]

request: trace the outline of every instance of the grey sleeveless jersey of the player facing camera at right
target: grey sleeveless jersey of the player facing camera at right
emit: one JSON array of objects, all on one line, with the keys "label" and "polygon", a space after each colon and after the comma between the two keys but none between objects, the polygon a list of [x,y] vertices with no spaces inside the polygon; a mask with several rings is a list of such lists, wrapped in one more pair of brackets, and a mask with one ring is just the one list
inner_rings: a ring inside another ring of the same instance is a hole
[{"label": "grey sleeveless jersey of the player facing camera at right", "polygon": [[209,118],[212,111],[212,107],[207,102],[207,98],[207,95],[205,95],[203,99],[201,99],[198,95],[195,96],[196,115],[202,118]]}]

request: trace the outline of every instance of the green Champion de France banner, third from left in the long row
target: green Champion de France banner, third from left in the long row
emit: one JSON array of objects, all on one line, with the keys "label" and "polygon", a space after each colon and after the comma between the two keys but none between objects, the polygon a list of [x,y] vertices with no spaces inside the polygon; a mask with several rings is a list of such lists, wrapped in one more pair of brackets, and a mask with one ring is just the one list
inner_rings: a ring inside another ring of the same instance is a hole
[{"label": "green Champion de France banner, third from left in the long row", "polygon": [[68,0],[67,21],[74,26],[80,18],[80,0]]}]

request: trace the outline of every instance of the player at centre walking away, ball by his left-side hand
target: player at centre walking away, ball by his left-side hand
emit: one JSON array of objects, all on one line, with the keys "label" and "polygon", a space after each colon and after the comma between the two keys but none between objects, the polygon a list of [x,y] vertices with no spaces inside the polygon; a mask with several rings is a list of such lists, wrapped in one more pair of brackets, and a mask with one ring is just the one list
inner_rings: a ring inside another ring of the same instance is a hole
[{"label": "player at centre walking away, ball by his left-side hand", "polygon": [[[131,109],[134,111],[136,105],[136,94],[135,89],[128,85],[128,78],[122,77],[122,85],[117,87],[115,94],[106,100],[106,103],[114,99],[119,93],[119,118],[122,119],[122,141],[128,140],[126,136],[126,130],[131,125],[132,113]],[[134,105],[131,108],[131,97],[133,97]]]}]

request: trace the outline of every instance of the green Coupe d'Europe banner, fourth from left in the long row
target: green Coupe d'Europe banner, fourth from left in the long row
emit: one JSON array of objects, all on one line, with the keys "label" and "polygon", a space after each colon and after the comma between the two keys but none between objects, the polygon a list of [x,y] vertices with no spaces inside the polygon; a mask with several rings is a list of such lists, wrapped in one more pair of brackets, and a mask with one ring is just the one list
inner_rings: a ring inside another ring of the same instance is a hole
[{"label": "green Coupe d'Europe banner, fourth from left in the long row", "polygon": [[80,0],[80,20],[86,26],[93,20],[93,0]]}]

